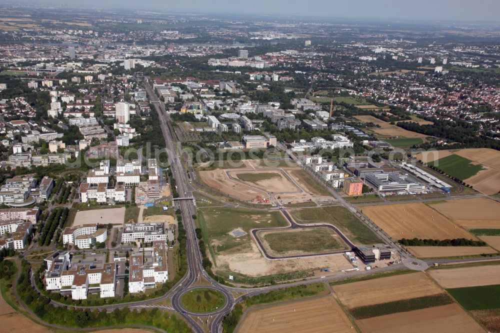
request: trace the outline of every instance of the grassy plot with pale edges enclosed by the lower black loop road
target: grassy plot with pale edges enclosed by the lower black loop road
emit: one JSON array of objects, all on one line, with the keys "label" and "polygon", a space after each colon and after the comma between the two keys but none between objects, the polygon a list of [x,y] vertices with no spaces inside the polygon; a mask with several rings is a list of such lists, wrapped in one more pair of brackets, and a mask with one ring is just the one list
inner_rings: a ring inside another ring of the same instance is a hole
[{"label": "grassy plot with pale edges enclosed by the lower black loop road", "polygon": [[325,253],[349,249],[329,228],[259,231],[257,236],[273,256]]}]

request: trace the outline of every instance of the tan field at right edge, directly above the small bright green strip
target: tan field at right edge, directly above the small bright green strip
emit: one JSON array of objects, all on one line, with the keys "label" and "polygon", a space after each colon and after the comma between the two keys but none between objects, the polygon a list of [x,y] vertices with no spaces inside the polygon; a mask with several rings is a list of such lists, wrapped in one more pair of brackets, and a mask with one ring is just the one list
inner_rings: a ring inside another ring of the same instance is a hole
[{"label": "tan field at right edge, directly above the small bright green strip", "polygon": [[430,205],[467,229],[500,228],[500,202],[488,198],[446,200]]}]

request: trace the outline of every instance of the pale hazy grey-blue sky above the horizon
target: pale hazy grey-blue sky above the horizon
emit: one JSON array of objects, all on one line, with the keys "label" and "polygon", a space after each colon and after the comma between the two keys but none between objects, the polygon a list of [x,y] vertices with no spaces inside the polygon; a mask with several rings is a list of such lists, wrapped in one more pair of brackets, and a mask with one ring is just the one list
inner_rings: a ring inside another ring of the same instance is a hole
[{"label": "pale hazy grey-blue sky above the horizon", "polygon": [[498,21],[500,0],[0,0],[2,3],[331,18]]}]

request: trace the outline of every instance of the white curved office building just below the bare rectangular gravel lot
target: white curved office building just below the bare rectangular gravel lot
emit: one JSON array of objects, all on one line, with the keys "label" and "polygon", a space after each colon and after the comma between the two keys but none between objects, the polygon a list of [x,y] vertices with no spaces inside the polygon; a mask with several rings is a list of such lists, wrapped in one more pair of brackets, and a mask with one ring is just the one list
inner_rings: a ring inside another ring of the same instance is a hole
[{"label": "white curved office building just below the bare rectangular gravel lot", "polygon": [[68,226],[62,233],[63,244],[74,244],[78,248],[90,248],[96,242],[102,243],[106,239],[107,230],[97,229],[97,224]]}]

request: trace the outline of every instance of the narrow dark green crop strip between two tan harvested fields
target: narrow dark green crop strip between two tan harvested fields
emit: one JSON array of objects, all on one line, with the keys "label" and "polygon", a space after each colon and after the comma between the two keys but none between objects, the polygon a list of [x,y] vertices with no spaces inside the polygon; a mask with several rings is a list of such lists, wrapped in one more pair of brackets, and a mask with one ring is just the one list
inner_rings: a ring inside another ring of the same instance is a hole
[{"label": "narrow dark green crop strip between two tan harvested fields", "polygon": [[423,297],[400,299],[386,303],[359,306],[349,310],[356,319],[377,317],[380,315],[418,310],[421,308],[450,304],[453,301],[445,294],[429,295]]}]

